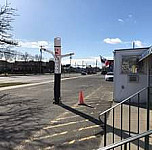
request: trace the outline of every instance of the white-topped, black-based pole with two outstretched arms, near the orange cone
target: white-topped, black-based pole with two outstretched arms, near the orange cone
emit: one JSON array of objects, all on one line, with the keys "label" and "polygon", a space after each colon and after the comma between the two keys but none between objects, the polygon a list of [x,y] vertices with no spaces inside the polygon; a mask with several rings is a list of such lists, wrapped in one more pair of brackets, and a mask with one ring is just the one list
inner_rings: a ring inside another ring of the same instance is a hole
[{"label": "white-topped, black-based pole with two outstretched arms, near the orange cone", "polygon": [[61,59],[63,57],[74,55],[74,53],[61,55],[61,38],[56,37],[54,38],[54,52],[47,50],[41,47],[41,50],[49,52],[53,55],[55,60],[55,70],[54,70],[54,104],[61,103],[61,96],[60,96],[60,85],[61,85]]}]

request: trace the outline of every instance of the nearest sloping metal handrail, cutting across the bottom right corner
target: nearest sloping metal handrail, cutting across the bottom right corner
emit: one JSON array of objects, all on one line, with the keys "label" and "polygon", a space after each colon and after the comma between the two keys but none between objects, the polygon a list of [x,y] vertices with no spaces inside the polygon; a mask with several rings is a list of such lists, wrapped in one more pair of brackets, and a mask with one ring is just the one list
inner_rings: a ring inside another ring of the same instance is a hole
[{"label": "nearest sloping metal handrail, cutting across the bottom right corner", "polygon": [[136,140],[139,141],[139,139],[140,139],[140,138],[143,138],[143,137],[145,138],[145,139],[144,139],[144,140],[145,140],[145,142],[144,142],[144,149],[145,149],[145,150],[148,150],[148,149],[149,149],[149,145],[146,144],[146,140],[147,140],[147,137],[148,137],[149,135],[151,135],[151,134],[152,134],[152,130],[148,130],[148,131],[146,131],[146,132],[144,132],[144,133],[141,133],[141,134],[138,134],[138,135],[129,137],[129,138],[124,139],[124,140],[122,140],[122,141],[120,141],[120,142],[117,142],[117,143],[108,145],[108,146],[103,147],[103,148],[99,148],[98,150],[110,150],[110,149],[114,149],[114,148],[117,148],[117,147],[120,147],[120,146],[121,146],[121,147],[124,146],[124,150],[127,150],[127,146],[128,146],[127,144],[128,144],[128,143],[133,142],[133,141],[136,141]]}]

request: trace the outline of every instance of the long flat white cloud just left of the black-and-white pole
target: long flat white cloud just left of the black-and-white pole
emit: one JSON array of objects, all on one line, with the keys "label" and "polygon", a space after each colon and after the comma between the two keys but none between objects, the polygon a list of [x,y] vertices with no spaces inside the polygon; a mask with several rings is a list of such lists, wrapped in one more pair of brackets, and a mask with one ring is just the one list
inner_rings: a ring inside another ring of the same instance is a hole
[{"label": "long flat white cloud just left of the black-and-white pole", "polygon": [[24,48],[40,48],[40,46],[44,46],[45,48],[52,47],[52,43],[48,41],[19,41],[19,46]]}]

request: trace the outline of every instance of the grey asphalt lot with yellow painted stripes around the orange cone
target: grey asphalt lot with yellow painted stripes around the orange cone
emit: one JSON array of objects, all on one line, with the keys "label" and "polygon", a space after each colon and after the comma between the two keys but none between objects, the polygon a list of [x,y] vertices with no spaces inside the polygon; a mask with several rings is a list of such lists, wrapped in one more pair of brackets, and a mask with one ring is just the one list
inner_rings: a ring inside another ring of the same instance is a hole
[{"label": "grey asphalt lot with yellow painted stripes around the orange cone", "polygon": [[[52,104],[53,82],[1,91],[1,150],[99,147],[103,129],[98,114],[111,105],[112,82],[88,75],[64,78],[61,87],[61,105]],[[77,105],[80,90],[85,106]]]}]

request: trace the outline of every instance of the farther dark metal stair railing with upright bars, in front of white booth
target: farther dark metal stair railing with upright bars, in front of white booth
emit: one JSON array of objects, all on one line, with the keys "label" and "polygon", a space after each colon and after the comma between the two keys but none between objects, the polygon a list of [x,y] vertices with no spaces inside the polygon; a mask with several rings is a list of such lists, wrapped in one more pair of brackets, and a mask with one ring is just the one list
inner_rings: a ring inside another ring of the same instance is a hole
[{"label": "farther dark metal stair railing with upright bars, in front of white booth", "polygon": [[[120,138],[121,140],[123,139],[123,105],[124,104],[128,104],[128,136],[130,137],[131,136],[131,105],[132,105],[132,99],[134,97],[137,97],[137,134],[139,134],[140,132],[140,117],[139,117],[139,111],[140,111],[140,94],[143,92],[143,91],[146,91],[147,92],[147,105],[146,105],[146,108],[147,108],[147,118],[146,118],[146,130],[148,131],[149,130],[149,127],[150,127],[150,87],[145,87],[141,90],[139,90],[138,92],[136,92],[135,94],[129,96],[128,98],[124,99],[123,101],[121,101],[120,103],[112,106],[111,108],[107,109],[106,111],[100,113],[99,115],[99,120],[101,122],[104,123],[104,147],[107,146],[107,127],[109,127],[109,125],[107,125],[107,116],[108,116],[108,113],[110,111],[112,111],[113,115],[112,115],[112,125],[110,126],[111,127],[111,132],[112,132],[112,143],[115,142],[115,108],[120,106]],[[103,121],[101,119],[101,117],[104,117]],[[126,117],[126,116],[125,116]],[[149,144],[149,137],[146,137],[146,143]],[[109,143],[108,143],[109,144]],[[122,149],[122,147],[121,147]],[[138,149],[139,149],[139,141],[138,141]],[[130,150],[130,143],[129,143],[129,150]]]}]

